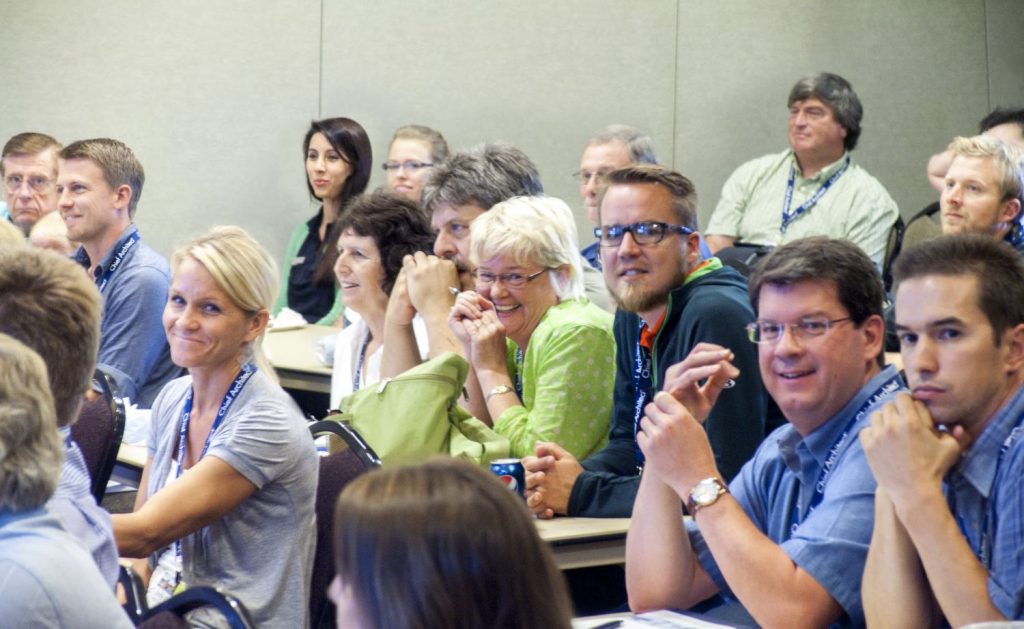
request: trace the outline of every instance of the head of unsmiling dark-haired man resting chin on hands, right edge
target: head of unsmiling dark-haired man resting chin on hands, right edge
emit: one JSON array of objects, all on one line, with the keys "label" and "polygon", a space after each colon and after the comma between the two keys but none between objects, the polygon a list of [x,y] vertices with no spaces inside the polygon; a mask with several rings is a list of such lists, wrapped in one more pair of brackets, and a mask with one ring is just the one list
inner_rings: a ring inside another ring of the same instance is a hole
[{"label": "head of unsmiling dark-haired man resting chin on hands, right edge", "polygon": [[943,236],[901,255],[894,277],[913,397],[977,436],[1022,381],[1024,261],[991,238]]}]

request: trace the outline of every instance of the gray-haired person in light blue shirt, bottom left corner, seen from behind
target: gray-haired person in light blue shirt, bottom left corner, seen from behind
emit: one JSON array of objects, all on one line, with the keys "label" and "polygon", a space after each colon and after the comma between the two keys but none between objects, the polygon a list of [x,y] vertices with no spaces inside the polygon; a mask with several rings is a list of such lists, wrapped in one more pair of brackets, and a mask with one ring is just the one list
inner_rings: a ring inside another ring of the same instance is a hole
[{"label": "gray-haired person in light blue shirt, bottom left corner, seen from behind", "polygon": [[60,438],[46,365],[0,334],[2,624],[131,627],[89,553],[44,508],[59,474]]}]

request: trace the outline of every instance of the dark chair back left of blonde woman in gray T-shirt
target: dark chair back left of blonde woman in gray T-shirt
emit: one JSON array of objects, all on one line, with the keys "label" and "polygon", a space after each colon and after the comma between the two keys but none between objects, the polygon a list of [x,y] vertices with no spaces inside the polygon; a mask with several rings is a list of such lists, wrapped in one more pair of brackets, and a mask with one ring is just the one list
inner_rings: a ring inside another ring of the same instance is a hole
[{"label": "dark chair back left of blonde woman in gray T-shirt", "polygon": [[71,426],[71,438],[82,451],[92,478],[92,495],[99,504],[106,493],[106,483],[111,479],[125,433],[125,405],[115,395],[106,374],[97,369],[93,379],[102,394],[82,405],[78,421]]}]

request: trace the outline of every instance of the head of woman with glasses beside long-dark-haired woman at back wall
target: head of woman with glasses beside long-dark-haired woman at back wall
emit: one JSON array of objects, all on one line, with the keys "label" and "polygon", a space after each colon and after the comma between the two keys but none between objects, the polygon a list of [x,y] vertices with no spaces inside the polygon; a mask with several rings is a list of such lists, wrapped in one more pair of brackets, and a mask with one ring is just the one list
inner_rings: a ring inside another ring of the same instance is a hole
[{"label": "head of woman with glasses beside long-dark-haired woman at back wall", "polygon": [[439,132],[420,125],[398,127],[388,146],[387,161],[383,164],[387,173],[387,188],[420,203],[423,185],[431,169],[446,160],[447,156],[447,141]]}]

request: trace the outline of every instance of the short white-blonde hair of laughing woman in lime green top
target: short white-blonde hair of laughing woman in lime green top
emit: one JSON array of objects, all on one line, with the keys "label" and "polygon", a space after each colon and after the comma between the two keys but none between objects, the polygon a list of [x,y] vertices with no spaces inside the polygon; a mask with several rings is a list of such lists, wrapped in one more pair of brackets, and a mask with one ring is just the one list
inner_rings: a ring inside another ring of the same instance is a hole
[{"label": "short white-blonde hair of laughing woman in lime green top", "polygon": [[551,274],[559,299],[584,296],[583,263],[577,248],[575,221],[565,202],[554,197],[513,197],[473,221],[470,259],[479,265],[496,255],[517,263],[531,262],[554,269],[568,267],[564,281]]}]

